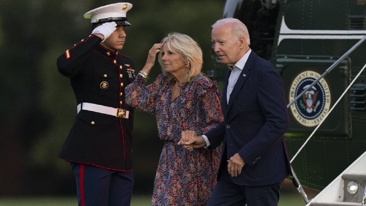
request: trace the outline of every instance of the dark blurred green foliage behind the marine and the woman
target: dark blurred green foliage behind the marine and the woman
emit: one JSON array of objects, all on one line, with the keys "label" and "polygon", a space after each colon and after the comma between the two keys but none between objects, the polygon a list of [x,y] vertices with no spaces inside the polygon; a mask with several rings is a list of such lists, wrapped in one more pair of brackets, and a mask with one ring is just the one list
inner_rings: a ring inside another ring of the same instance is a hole
[{"label": "dark blurred green foliage behind the marine and the woman", "polygon": [[[76,100],[56,59],[91,33],[83,15],[112,0],[1,0],[0,8],[0,196],[75,195],[70,164],[57,154],[76,116]],[[203,50],[213,67],[211,25],[224,0],[131,0],[126,43],[136,74],[147,53],[166,34],[180,32]],[[158,63],[149,84],[161,73]],[[150,194],[163,147],[155,117],[135,113],[134,194]]]}]

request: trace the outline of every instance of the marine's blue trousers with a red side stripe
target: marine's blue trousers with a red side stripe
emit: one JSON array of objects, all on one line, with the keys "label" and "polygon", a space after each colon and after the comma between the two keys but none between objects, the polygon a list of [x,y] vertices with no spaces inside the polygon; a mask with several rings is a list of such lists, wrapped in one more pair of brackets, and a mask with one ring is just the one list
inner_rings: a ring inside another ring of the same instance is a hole
[{"label": "marine's blue trousers with a red side stripe", "polygon": [[129,206],[134,176],[94,165],[70,162],[75,174],[79,206]]}]

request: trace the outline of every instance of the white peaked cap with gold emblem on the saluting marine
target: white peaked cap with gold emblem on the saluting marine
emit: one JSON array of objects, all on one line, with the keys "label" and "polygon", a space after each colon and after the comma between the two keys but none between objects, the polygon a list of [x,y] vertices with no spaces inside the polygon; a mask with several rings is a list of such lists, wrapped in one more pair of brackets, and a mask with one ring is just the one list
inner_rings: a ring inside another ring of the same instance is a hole
[{"label": "white peaked cap with gold emblem on the saluting marine", "polygon": [[84,14],[84,18],[91,19],[92,24],[116,22],[117,25],[130,26],[126,13],[132,8],[130,3],[115,3],[98,7]]}]

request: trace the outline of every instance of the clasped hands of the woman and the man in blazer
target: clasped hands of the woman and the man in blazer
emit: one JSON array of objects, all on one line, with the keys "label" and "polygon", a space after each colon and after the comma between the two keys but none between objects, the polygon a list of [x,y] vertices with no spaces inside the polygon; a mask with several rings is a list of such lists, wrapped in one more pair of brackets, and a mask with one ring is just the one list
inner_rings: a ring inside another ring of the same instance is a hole
[{"label": "clasped hands of the woman and the man in blazer", "polygon": [[206,141],[194,131],[187,130],[182,132],[182,138],[179,140],[178,145],[182,145],[188,151],[193,151],[194,148],[205,146]]}]

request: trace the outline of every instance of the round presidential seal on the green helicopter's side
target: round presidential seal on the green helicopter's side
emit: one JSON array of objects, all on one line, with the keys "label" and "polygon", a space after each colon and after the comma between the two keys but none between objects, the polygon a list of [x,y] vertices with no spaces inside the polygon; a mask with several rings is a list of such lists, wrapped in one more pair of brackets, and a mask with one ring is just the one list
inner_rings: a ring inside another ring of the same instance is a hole
[{"label": "round presidential seal on the green helicopter's side", "polygon": [[[301,92],[320,77],[315,71],[303,71],[294,81],[290,88],[289,100],[295,99]],[[322,78],[317,84],[306,91],[302,97],[291,104],[291,112],[295,119],[303,126],[316,126],[325,117],[330,108],[330,90],[328,82]]]}]

